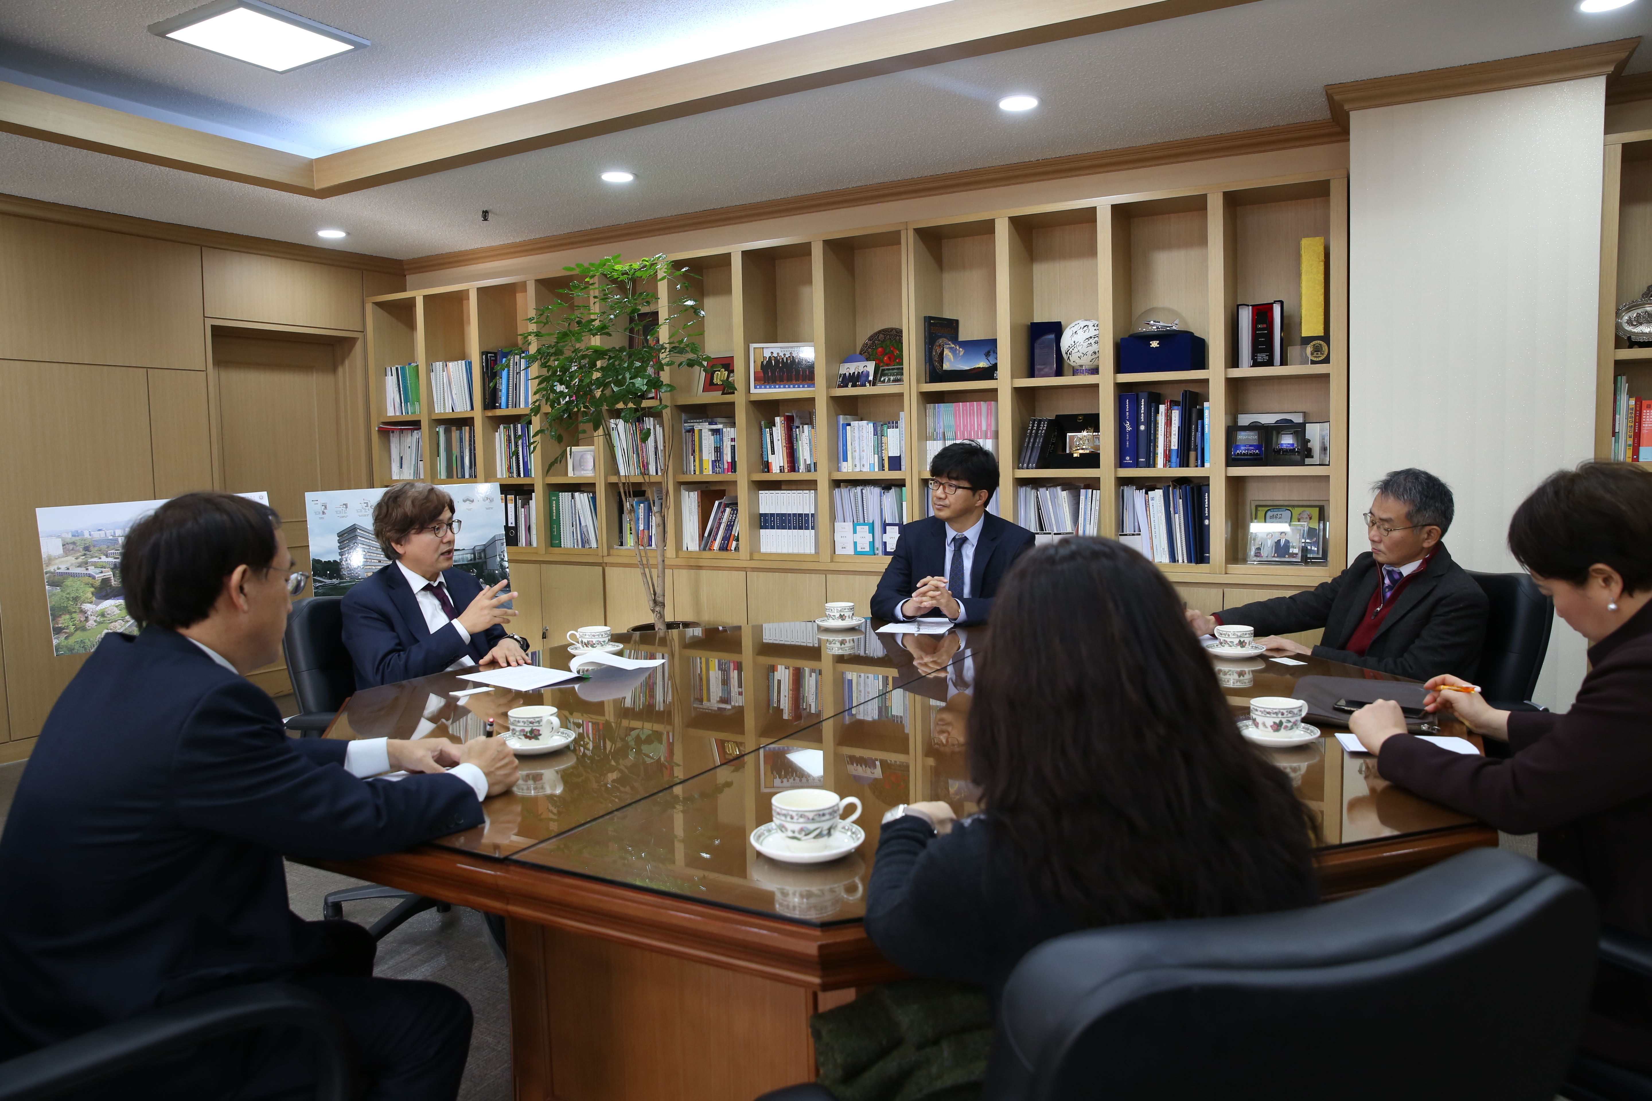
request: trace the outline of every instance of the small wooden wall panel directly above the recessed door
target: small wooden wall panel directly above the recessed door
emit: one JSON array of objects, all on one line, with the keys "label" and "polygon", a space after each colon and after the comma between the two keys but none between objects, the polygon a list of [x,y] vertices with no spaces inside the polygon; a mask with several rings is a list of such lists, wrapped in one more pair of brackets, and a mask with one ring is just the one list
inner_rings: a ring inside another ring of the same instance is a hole
[{"label": "small wooden wall panel directly above the recessed door", "polygon": [[[202,249],[206,317],[362,330],[362,272]],[[383,294],[383,292],[380,292]]]}]

